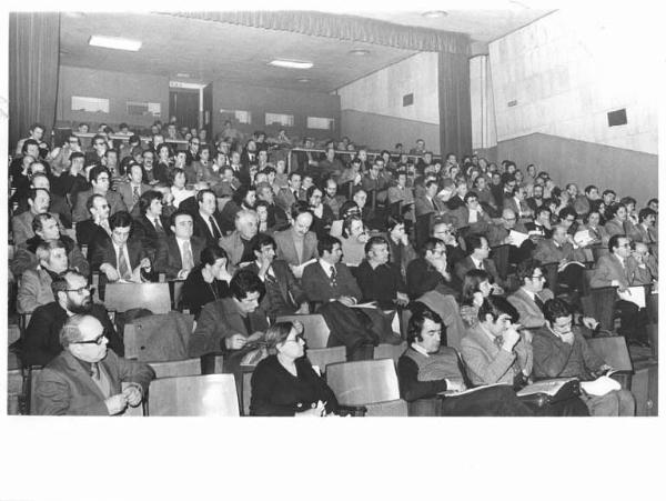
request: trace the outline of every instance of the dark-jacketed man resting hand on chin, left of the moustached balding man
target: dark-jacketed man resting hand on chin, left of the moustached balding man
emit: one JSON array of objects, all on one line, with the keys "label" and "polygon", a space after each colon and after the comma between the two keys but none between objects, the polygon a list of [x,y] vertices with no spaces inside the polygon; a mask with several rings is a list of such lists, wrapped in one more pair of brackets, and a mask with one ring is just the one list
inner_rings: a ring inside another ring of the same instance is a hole
[{"label": "dark-jacketed man resting hand on chin, left of the moustached balding man", "polygon": [[275,240],[268,234],[258,233],[250,241],[250,247],[255,259],[244,269],[254,271],[264,282],[266,293],[261,309],[273,321],[284,314],[307,314],[310,308],[301,284],[289,265],[275,259]]}]

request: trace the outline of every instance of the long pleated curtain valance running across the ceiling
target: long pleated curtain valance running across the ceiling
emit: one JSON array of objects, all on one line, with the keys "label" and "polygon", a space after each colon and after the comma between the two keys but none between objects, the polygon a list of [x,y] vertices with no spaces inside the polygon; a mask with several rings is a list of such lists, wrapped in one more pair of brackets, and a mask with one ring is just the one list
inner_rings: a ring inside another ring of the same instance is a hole
[{"label": "long pleated curtain valance running across the ceiling", "polygon": [[470,50],[470,38],[463,33],[407,27],[355,16],[313,11],[173,12],[172,14],[406,50],[464,54],[468,54]]}]

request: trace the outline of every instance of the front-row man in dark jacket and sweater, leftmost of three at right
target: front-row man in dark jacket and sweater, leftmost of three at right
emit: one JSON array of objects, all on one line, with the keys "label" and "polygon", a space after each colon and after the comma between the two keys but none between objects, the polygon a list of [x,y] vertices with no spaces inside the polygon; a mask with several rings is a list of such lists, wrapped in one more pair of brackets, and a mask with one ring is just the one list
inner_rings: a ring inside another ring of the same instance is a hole
[{"label": "front-row man in dark jacket and sweater, leftmost of three at right", "polygon": [[466,395],[438,397],[466,389],[458,357],[441,345],[442,319],[421,308],[410,319],[407,350],[397,361],[401,397],[410,415],[532,415],[509,385],[498,385]]}]

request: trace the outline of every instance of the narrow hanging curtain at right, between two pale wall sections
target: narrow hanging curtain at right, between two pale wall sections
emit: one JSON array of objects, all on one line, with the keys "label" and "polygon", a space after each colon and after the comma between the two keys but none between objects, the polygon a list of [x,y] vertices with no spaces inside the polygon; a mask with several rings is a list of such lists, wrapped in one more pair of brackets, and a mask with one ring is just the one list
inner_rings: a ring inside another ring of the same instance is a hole
[{"label": "narrow hanging curtain at right, between two pale wall sections", "polygon": [[472,108],[467,54],[440,52],[440,148],[461,157],[472,153]]}]

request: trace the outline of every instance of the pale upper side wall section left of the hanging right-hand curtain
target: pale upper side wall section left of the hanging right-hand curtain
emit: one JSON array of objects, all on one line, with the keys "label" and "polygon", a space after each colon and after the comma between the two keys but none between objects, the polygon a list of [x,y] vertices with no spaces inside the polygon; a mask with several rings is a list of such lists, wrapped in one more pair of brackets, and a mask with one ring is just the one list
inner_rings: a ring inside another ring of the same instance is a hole
[{"label": "pale upper side wall section left of the hanging right-hand curtain", "polygon": [[[414,104],[403,107],[413,93]],[[341,109],[440,123],[437,53],[421,52],[337,89]]]}]

